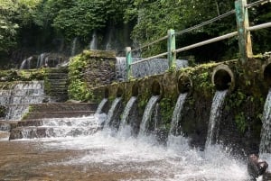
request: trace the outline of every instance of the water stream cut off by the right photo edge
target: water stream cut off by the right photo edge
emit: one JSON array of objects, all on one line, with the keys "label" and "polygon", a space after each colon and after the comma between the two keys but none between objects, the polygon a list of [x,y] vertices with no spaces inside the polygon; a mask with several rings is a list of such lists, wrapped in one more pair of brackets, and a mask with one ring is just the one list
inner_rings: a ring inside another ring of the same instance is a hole
[{"label": "water stream cut off by the right photo edge", "polygon": [[261,131],[259,152],[260,154],[271,154],[271,89],[269,89],[266,97],[262,122],[263,126]]}]

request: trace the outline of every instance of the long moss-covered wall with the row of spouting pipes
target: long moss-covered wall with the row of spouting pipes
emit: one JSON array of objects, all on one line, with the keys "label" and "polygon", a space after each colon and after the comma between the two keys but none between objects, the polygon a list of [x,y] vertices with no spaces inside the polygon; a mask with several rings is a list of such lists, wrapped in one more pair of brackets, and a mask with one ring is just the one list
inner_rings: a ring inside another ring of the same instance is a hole
[{"label": "long moss-covered wall with the row of spouting pipes", "polygon": [[[193,68],[182,68],[177,72],[166,72],[164,75],[133,79],[125,83],[116,83],[108,86],[96,87],[93,95],[99,102],[105,90],[108,90],[109,100],[112,102],[117,96],[117,89],[123,90],[123,101],[127,103],[135,86],[137,87],[138,116],[142,118],[145,105],[153,95],[154,82],[161,86],[160,114],[161,128],[168,131],[180,90],[179,77],[185,76],[192,80],[192,87],[182,109],[182,132],[191,138],[191,145],[204,147],[212,98],[216,86],[211,83],[213,70],[220,64],[226,65],[234,76],[234,86],[229,87],[220,122],[219,141],[224,146],[230,146],[234,152],[257,151],[262,126],[262,113],[268,93],[268,85],[263,77],[263,66],[270,61],[269,57],[248,59],[246,65],[238,60],[220,63],[202,64]],[[182,81],[182,80],[181,80]]]}]

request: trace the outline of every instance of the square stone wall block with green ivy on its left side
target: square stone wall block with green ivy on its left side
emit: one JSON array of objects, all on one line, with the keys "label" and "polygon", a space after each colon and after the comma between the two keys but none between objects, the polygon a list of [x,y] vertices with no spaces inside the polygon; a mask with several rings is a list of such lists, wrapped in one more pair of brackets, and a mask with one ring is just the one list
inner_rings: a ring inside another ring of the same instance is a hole
[{"label": "square stone wall block with green ivy on its left side", "polygon": [[111,84],[116,79],[115,64],[114,51],[84,50],[70,59],[70,99],[86,101],[90,88]]}]

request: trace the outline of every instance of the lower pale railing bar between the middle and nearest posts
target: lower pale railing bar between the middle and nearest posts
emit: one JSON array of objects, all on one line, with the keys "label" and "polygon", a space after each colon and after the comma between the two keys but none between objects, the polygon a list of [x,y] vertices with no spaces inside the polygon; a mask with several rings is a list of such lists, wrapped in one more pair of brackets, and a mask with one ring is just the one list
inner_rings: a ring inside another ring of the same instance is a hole
[{"label": "lower pale railing bar between the middle and nearest posts", "polygon": [[216,37],[216,38],[210,39],[208,41],[201,41],[201,42],[198,42],[198,43],[186,46],[186,47],[182,47],[181,49],[173,50],[173,52],[178,53],[178,52],[181,52],[181,51],[184,51],[184,50],[191,50],[191,49],[194,49],[194,48],[197,48],[197,47],[201,47],[202,45],[210,44],[212,42],[222,41],[222,40],[225,40],[225,39],[229,39],[229,38],[234,37],[236,35],[238,35],[238,32],[230,32],[228,34],[225,34],[225,35],[222,35],[220,37]]}]

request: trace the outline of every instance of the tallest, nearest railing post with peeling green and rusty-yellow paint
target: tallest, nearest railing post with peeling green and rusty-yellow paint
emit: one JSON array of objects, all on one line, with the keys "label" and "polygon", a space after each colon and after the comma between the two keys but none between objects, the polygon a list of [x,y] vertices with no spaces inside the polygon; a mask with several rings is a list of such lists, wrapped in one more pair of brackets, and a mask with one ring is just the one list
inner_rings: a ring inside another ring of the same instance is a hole
[{"label": "tallest, nearest railing post with peeling green and rusty-yellow paint", "polygon": [[253,56],[250,32],[247,31],[249,27],[248,22],[248,8],[246,8],[247,0],[236,0],[235,11],[236,21],[238,26],[238,45],[240,52],[240,60],[243,64],[248,58]]}]

